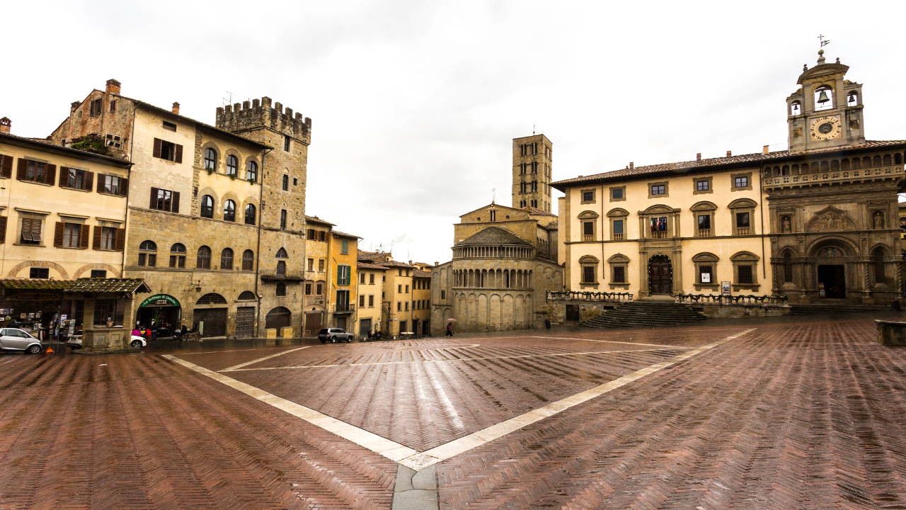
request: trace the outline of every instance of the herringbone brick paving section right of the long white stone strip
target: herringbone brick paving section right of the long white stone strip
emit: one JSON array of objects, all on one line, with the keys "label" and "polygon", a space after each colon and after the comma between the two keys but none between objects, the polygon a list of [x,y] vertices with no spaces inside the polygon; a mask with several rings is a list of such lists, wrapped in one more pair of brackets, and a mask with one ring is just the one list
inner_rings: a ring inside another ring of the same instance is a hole
[{"label": "herringbone brick paving section right of the long white stone strip", "polygon": [[439,464],[441,508],[906,508],[906,352],[766,325]]}]

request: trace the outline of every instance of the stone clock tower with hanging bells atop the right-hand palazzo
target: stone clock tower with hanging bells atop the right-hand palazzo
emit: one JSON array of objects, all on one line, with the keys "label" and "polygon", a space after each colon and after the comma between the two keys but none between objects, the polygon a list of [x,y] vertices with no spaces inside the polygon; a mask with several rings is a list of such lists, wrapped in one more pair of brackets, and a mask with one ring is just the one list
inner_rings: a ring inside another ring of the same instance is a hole
[{"label": "stone clock tower with hanging bells atop the right-hand palazzo", "polygon": [[848,65],[824,63],[803,66],[799,90],[786,98],[790,152],[859,145],[865,142],[862,84],[844,80]]}]

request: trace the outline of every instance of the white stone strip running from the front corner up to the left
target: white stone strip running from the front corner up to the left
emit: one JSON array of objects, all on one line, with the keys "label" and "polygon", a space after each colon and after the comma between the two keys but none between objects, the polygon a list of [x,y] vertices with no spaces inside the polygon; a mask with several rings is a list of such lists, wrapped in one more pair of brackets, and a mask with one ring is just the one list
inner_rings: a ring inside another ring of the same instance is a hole
[{"label": "white stone strip running from the front corner up to the left", "polygon": [[169,354],[162,355],[162,357],[167,358],[171,361],[175,361],[183,367],[194,370],[201,375],[207,376],[208,378],[212,378],[219,383],[225,384],[228,387],[232,387],[233,389],[241,391],[249,397],[261,400],[265,404],[276,407],[286,413],[289,413],[290,415],[293,415],[294,417],[302,418],[314,426],[321,427],[328,432],[332,432],[337,436],[341,436],[343,439],[352,441],[352,443],[355,443],[356,445],[368,448],[372,452],[380,456],[385,456],[392,461],[399,462],[400,459],[419,453],[418,450],[414,450],[409,446],[400,445],[400,443],[391,441],[386,437],[378,436],[377,434],[371,433],[359,427],[355,427],[334,417],[329,417],[327,415],[319,413],[318,411],[315,411],[312,408],[301,406],[282,397],[277,397],[276,395],[268,393],[263,389],[259,389],[244,382],[237,381],[236,379],[229,378],[223,374],[218,374],[213,370],[199,367],[198,365],[190,363],[185,359],[179,359]]}]

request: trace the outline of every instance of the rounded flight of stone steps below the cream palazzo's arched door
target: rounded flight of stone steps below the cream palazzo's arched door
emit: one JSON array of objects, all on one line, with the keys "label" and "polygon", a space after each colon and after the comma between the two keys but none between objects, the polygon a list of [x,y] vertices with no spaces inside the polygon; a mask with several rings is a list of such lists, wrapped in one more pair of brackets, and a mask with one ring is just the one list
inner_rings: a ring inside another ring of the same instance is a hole
[{"label": "rounded flight of stone steps below the cream palazzo's arched door", "polygon": [[630,301],[583,321],[585,328],[664,328],[707,319],[688,306],[665,300]]}]

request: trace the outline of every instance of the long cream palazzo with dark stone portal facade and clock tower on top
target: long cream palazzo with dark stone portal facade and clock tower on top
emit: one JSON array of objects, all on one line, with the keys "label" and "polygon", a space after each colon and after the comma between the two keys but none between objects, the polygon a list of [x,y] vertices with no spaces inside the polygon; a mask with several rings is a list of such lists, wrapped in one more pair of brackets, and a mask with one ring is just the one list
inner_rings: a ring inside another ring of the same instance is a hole
[{"label": "long cream palazzo with dark stone portal facade and clock tower on top", "polygon": [[902,289],[897,193],[906,141],[867,141],[848,66],[806,68],[789,149],[554,182],[572,290],[783,295],[878,304]]}]

